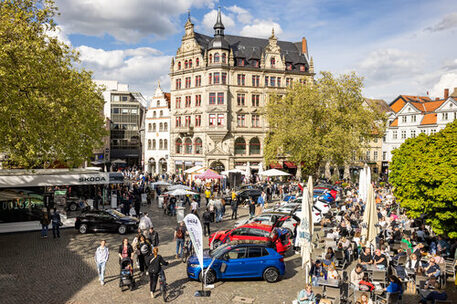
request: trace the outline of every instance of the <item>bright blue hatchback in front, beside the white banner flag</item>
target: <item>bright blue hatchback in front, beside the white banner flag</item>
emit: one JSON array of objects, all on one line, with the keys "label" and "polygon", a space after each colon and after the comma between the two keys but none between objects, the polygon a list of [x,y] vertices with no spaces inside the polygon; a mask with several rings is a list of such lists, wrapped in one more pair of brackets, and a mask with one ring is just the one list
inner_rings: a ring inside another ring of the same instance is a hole
[{"label": "bright blue hatchback in front, beside the white banner flag", "polygon": [[[227,243],[211,251],[205,250],[203,267],[205,270],[210,267],[206,274],[206,284],[234,278],[263,278],[273,283],[285,272],[284,258],[274,248],[266,243],[246,241]],[[187,276],[201,281],[201,272],[197,257],[191,256],[187,262]]]}]

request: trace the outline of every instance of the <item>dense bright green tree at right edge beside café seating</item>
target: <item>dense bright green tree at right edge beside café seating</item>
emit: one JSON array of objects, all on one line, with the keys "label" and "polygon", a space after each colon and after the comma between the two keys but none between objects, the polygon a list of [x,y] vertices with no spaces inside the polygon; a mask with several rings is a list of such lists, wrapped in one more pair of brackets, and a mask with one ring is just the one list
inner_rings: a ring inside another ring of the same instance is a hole
[{"label": "dense bright green tree at right edge beside caf\u00e9 seating", "polygon": [[407,139],[392,152],[389,181],[413,218],[457,238],[457,120],[434,135]]}]

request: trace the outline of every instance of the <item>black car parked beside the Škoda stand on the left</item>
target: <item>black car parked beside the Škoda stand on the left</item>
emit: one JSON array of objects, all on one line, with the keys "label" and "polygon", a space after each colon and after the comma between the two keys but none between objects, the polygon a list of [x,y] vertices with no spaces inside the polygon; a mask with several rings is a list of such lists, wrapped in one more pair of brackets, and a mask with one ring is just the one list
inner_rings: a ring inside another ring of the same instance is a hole
[{"label": "black car parked beside the \u0160koda stand on the left", "polygon": [[116,210],[90,210],[76,218],[75,229],[80,233],[88,231],[116,231],[125,234],[138,229],[139,220]]}]

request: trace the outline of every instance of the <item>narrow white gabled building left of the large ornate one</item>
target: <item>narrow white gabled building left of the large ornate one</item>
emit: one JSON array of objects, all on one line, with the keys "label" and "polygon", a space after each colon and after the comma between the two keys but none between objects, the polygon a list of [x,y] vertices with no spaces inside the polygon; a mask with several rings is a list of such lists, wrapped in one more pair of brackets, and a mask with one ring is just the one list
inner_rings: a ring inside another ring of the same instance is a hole
[{"label": "narrow white gabled building left of the large ornate one", "polygon": [[170,93],[160,84],[154,92],[145,120],[144,169],[148,173],[167,173],[170,165]]}]

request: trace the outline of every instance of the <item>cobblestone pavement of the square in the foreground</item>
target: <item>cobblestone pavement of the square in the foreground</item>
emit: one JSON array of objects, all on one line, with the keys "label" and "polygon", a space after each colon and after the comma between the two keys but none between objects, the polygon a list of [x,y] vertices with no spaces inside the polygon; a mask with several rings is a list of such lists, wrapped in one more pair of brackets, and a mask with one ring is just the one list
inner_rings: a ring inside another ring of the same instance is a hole
[{"label": "cobblestone pavement of the square in the foreground", "polygon": [[[239,211],[242,217],[247,216],[246,209],[240,208]],[[186,264],[174,258],[176,245],[172,237],[176,219],[164,216],[155,205],[149,213],[160,235],[160,254],[170,262],[165,269],[172,291],[170,303],[251,303],[235,301],[235,297],[252,299],[252,303],[291,303],[303,288],[300,257],[291,255],[285,258],[286,274],[277,283],[262,280],[217,282],[211,297],[196,298],[194,293],[201,288],[201,283],[188,280]],[[224,222],[212,224],[211,230],[231,228],[233,223],[226,214]],[[122,236],[115,233],[81,235],[73,229],[63,230],[61,234],[60,239],[53,239],[52,233],[47,239],[41,239],[39,232],[0,235],[2,303],[162,303],[159,297],[151,299],[149,279],[139,278],[138,272],[135,290],[121,291],[119,288],[117,249]],[[128,237],[133,239],[132,234]],[[101,239],[107,240],[110,249],[105,286],[99,284],[93,258]],[[455,288],[450,288],[455,296]],[[417,298],[406,296],[405,303],[417,303]]]}]

